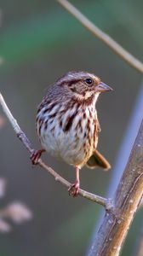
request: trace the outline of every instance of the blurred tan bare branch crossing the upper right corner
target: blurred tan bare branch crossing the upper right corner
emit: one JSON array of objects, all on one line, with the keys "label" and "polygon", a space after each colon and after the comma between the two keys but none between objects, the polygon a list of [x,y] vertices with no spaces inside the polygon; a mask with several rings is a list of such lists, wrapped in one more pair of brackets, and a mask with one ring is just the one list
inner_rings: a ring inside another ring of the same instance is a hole
[{"label": "blurred tan bare branch crossing the upper right corner", "polygon": [[136,59],[133,55],[124,49],[120,44],[117,44],[106,32],[102,32],[98,26],[95,26],[86,16],[84,16],[72,3],[66,0],[57,0],[65,9],[67,9],[74,17],[79,20],[95,37],[107,44],[117,55],[124,61],[128,62],[131,67],[134,67],[140,73],[143,73],[143,63]]}]

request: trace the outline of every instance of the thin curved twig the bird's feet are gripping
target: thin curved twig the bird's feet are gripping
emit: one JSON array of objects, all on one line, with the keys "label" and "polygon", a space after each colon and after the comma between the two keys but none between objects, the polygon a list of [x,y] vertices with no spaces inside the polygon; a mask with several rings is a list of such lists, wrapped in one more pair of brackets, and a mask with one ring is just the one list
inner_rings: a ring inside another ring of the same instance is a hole
[{"label": "thin curved twig the bird's feet are gripping", "polygon": [[[20,126],[18,125],[16,119],[14,119],[14,116],[10,112],[6,102],[3,99],[2,94],[0,93],[0,104],[3,108],[3,112],[6,114],[7,118],[9,119],[10,124],[14,128],[14,132],[16,133],[17,137],[20,139],[20,141],[25,145],[25,147],[28,149],[30,153],[33,152],[33,148],[31,148],[31,143],[29,139],[26,137],[26,134],[20,129]],[[38,160],[38,165],[43,167],[46,171],[48,171],[56,181],[59,181],[61,184],[65,185],[67,188],[71,186],[71,183],[66,181],[65,178],[61,177],[57,172],[55,172],[50,166],[47,166],[42,159]],[[92,193],[89,193],[83,189],[79,189],[79,195],[83,196],[86,199],[89,199],[90,201],[94,201],[101,206],[105,207],[106,210],[112,209],[112,201],[111,199],[106,199],[104,197],[101,197],[100,195],[94,195]]]}]

